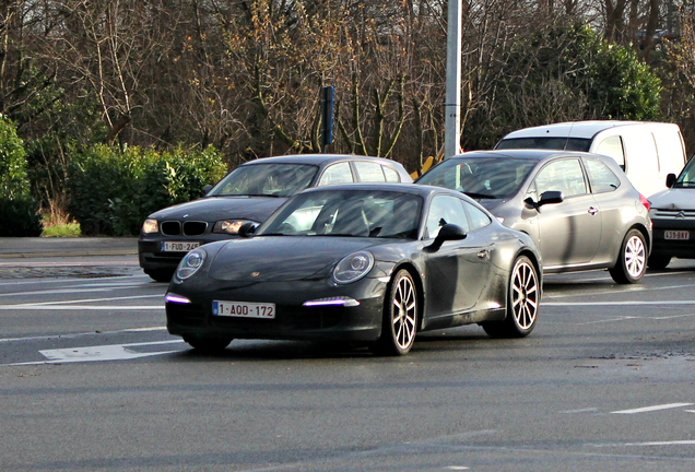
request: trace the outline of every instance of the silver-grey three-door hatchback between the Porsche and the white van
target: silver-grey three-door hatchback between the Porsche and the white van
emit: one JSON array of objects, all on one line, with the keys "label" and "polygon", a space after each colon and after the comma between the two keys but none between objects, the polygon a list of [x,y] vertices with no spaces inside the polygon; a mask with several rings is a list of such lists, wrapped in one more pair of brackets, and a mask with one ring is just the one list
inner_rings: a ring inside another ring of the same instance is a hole
[{"label": "silver-grey three-door hatchback between the Porsche and the white van", "polygon": [[545,273],[608,269],[615,282],[636,283],[647,269],[649,202],[611,157],[476,151],[439,163],[416,184],[459,190],[530,235]]}]

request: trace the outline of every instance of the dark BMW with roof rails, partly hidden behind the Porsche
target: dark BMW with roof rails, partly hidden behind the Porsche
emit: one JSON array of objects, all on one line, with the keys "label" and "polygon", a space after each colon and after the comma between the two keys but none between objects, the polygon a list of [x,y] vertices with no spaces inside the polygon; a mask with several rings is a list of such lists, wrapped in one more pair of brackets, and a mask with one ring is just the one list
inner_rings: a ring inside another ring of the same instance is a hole
[{"label": "dark BMW with roof rails, partly hidden behind the Porsche", "polygon": [[203,198],[160,210],[140,232],[140,267],[168,282],[184,255],[200,245],[236,237],[246,222],[260,224],[306,188],[346,182],[411,182],[394,161],[356,155],[288,155],[248,162]]}]

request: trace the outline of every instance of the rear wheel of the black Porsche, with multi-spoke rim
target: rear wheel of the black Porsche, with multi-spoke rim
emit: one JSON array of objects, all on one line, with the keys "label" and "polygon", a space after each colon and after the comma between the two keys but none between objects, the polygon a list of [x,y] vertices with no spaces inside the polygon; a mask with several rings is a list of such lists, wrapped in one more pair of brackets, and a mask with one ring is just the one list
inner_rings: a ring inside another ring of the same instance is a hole
[{"label": "rear wheel of the black Porsche, with multi-spoke rim", "polygon": [[504,321],[487,321],[483,329],[491,338],[523,338],[535,328],[541,287],[533,262],[519,256],[509,274],[507,314]]}]

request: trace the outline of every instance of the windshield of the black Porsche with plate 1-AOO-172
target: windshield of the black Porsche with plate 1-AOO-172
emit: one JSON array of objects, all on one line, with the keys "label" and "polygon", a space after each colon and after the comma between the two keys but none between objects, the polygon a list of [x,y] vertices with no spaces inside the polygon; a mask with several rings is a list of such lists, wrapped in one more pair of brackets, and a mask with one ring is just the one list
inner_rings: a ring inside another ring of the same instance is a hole
[{"label": "windshield of the black Porsche with plate 1-AOO-172", "polygon": [[340,190],[303,193],[258,235],[353,236],[415,239],[422,198],[410,193]]}]

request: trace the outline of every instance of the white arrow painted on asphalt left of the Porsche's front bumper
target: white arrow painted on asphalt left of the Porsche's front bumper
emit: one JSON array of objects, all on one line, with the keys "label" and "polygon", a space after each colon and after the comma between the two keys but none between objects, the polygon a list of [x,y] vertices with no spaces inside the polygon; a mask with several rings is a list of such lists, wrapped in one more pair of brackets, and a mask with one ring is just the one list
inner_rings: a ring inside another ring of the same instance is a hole
[{"label": "white arrow painted on asphalt left of the Porsche's front bumper", "polygon": [[158,351],[158,352],[137,352],[131,350],[133,346],[145,345],[160,345],[160,344],[178,344],[182,343],[182,340],[175,341],[155,341],[144,343],[130,343],[130,344],[107,344],[98,346],[87,347],[70,347],[60,350],[44,350],[39,353],[47,358],[47,361],[30,362],[30,363],[14,363],[5,364],[8,366],[21,366],[21,365],[39,365],[39,364],[68,364],[68,363],[81,363],[81,362],[97,362],[97,361],[129,361],[140,357],[150,357],[162,354],[169,354],[180,350]]}]

